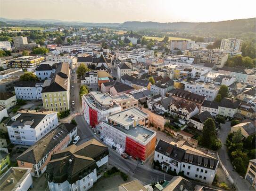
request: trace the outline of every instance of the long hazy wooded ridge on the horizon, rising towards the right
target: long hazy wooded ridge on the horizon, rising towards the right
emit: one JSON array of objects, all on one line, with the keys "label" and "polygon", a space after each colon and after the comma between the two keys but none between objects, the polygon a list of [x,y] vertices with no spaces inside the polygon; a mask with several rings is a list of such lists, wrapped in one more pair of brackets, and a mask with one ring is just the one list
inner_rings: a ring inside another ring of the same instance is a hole
[{"label": "long hazy wooded ridge on the horizon, rising towards the right", "polygon": [[220,22],[208,23],[156,23],[156,22],[124,22],[120,27],[127,29],[158,29],[158,30],[177,30],[177,31],[255,31],[256,18],[237,19]]}]

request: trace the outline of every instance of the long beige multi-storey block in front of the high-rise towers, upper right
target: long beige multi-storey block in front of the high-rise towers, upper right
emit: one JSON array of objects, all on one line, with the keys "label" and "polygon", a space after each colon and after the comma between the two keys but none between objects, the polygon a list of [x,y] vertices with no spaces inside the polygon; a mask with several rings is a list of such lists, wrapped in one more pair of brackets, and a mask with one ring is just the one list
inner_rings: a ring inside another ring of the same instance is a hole
[{"label": "long beige multi-storey block in front of the high-rise towers, upper right", "polygon": [[195,58],[196,63],[212,64],[214,68],[222,68],[228,60],[228,53],[219,50],[190,49],[184,56]]}]

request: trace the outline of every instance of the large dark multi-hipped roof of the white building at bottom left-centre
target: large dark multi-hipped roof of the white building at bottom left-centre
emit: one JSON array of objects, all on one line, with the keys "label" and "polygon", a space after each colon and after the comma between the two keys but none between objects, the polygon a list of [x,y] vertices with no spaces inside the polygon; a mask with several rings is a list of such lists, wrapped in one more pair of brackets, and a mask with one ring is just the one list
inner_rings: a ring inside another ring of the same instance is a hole
[{"label": "large dark multi-hipped roof of the white building at bottom left-centre", "polygon": [[107,146],[96,139],[82,145],[71,145],[52,155],[46,169],[49,182],[72,184],[97,168],[96,161],[108,155]]}]

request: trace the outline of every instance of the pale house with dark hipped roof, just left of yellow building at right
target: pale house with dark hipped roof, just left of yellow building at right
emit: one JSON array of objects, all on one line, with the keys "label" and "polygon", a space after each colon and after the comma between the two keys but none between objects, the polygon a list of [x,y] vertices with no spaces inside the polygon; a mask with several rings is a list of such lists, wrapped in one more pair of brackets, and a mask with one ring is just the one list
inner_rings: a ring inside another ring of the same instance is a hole
[{"label": "pale house with dark hipped roof, just left of yellow building at right", "polygon": [[241,102],[231,98],[223,98],[218,107],[218,115],[233,118]]}]

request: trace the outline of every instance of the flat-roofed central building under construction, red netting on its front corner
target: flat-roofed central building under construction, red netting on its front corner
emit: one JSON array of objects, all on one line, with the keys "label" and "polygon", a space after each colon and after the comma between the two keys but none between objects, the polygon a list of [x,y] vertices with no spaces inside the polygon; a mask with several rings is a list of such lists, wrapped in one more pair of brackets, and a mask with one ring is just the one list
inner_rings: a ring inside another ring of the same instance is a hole
[{"label": "flat-roofed central building under construction, red netting on its front corner", "polygon": [[148,126],[149,115],[132,107],[108,115],[107,121],[100,123],[100,135],[112,138],[124,148],[125,153],[145,161],[156,145],[156,132]]}]

